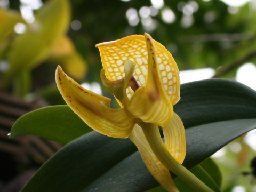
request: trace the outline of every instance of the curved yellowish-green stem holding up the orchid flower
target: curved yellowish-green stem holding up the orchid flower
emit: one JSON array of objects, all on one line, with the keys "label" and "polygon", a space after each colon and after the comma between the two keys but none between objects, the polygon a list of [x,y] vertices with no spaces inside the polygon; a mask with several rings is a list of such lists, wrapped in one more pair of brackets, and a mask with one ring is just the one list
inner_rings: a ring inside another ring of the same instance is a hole
[{"label": "curved yellowish-green stem holding up the orchid flower", "polygon": [[140,123],[140,125],[151,149],[164,166],[198,192],[213,192],[213,190],[206,186],[205,183],[199,180],[193,173],[187,170],[186,167],[178,163],[172,157],[164,145],[158,125],[144,122]]}]

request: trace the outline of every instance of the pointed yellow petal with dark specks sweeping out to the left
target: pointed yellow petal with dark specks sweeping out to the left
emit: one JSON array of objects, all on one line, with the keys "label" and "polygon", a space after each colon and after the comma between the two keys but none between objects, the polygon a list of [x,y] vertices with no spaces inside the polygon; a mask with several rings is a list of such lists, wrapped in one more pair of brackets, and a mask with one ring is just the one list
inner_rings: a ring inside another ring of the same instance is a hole
[{"label": "pointed yellow petal with dark specks sweeping out to the left", "polygon": [[134,121],[124,108],[109,108],[110,99],[84,89],[68,77],[58,66],[58,89],[68,106],[92,129],[115,138],[126,138],[133,129]]}]

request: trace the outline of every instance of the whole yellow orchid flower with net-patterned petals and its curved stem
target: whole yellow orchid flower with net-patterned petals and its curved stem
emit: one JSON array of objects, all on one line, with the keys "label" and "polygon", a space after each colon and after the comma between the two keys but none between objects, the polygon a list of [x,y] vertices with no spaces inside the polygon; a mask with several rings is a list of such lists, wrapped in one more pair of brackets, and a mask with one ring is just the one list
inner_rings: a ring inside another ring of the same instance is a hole
[{"label": "whole yellow orchid flower with net-patterned petals and its curved stem", "polygon": [[69,107],[95,131],[114,138],[129,137],[166,190],[179,191],[171,170],[198,191],[212,191],[181,165],[186,141],[183,123],[173,112],[180,99],[180,79],[171,53],[147,33],[96,46],[103,66],[102,83],[121,108],[110,108],[109,98],[84,89],[58,66],[57,86]]}]

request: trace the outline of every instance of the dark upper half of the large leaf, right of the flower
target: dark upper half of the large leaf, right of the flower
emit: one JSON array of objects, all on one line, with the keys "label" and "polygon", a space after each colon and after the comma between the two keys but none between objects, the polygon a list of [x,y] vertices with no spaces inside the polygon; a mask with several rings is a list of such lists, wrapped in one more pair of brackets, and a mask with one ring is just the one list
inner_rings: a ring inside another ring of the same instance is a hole
[{"label": "dark upper half of the large leaf, right of the flower", "polygon": [[174,111],[185,128],[205,123],[256,117],[256,92],[241,83],[209,79],[181,85]]}]

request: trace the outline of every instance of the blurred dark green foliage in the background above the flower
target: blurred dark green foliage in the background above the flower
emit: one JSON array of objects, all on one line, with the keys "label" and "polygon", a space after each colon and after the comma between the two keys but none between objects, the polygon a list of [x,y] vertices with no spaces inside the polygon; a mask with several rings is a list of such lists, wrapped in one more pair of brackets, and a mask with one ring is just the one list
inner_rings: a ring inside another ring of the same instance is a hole
[{"label": "blurred dark green foliage in the background above the flower", "polygon": [[[19,7],[17,2],[11,1],[10,7],[17,9]],[[218,73],[218,76],[234,78],[236,75],[235,71],[239,66],[245,62],[255,62],[256,38],[254,20],[256,11],[255,5],[252,2],[242,7],[230,7],[219,0],[165,1],[164,6],[156,10],[156,15],[149,16],[149,20],[156,23],[156,27],[150,30],[145,27],[145,24],[143,25],[143,18],[139,14],[142,7],[152,8],[152,4],[148,0],[127,2],[121,0],[97,0],[93,2],[75,0],[71,1],[70,4],[71,21],[81,22],[81,28],[79,30],[70,28],[68,36],[73,39],[75,47],[79,53],[83,54],[83,58],[86,59],[89,65],[90,73],[84,77],[86,81],[100,81],[99,71],[101,63],[99,52],[94,46],[95,44],[131,34],[143,34],[145,31],[156,41],[161,42],[167,47],[177,61],[180,70],[212,67],[218,71],[221,70],[220,67],[222,66],[233,66],[235,62],[233,67]],[[47,4],[45,3],[45,5]],[[186,14],[186,10],[188,11],[186,6],[190,9],[189,15]],[[129,25],[129,19],[126,16],[127,10],[130,8],[137,12],[137,17],[140,21],[135,26]],[[174,13],[175,20],[172,23],[165,23],[162,19],[165,9],[171,9]],[[191,9],[193,10],[192,12]],[[38,12],[40,10],[36,11],[36,17],[39,14]],[[65,17],[67,15],[68,13],[65,14]],[[182,24],[185,21],[186,15],[188,16],[187,19],[191,21],[190,25],[187,26]],[[62,17],[62,19],[65,17]],[[60,24],[61,22],[58,23],[58,25]],[[55,27],[58,25],[55,25]],[[51,30],[53,34],[55,34],[54,29],[52,28]],[[28,39],[29,41],[30,39]],[[41,41],[39,38],[37,41],[38,43],[46,42],[44,39]],[[37,41],[33,42],[36,43]],[[10,44],[10,42],[7,44]],[[30,43],[25,43],[26,46],[28,44]],[[26,48],[25,45],[22,45],[22,48],[19,50],[24,50]],[[42,54],[40,56],[43,57],[43,51],[40,53]],[[25,57],[24,55],[32,54],[22,54],[20,52],[15,55],[20,56],[18,57],[20,59]],[[66,60],[69,59],[70,57],[66,58]],[[14,60],[17,60],[17,57]],[[79,61],[79,57],[75,58],[74,61],[77,60]],[[43,60],[38,59],[37,61],[39,63],[35,64],[34,69]],[[28,63],[26,60],[26,64],[22,62],[21,65],[29,65]],[[47,65],[44,68],[47,68]],[[12,70],[17,69],[14,67]],[[74,74],[74,71],[72,72]],[[228,75],[225,76],[225,74]],[[45,78],[50,78],[49,81],[54,81],[52,73],[44,72],[43,75]],[[35,76],[34,78],[37,79],[38,77]],[[39,88],[41,87],[36,87],[36,89]]]}]

